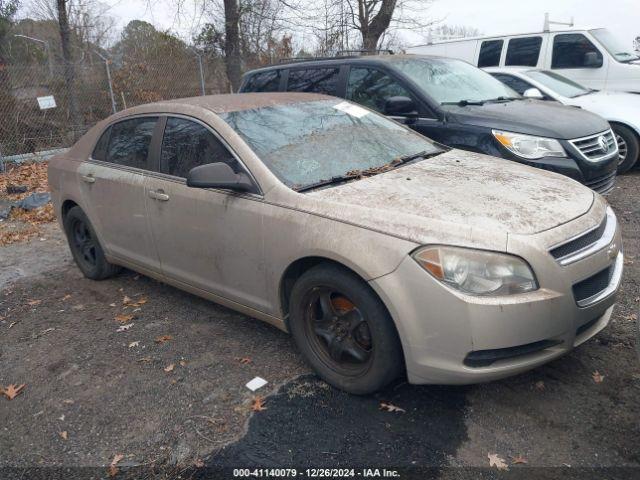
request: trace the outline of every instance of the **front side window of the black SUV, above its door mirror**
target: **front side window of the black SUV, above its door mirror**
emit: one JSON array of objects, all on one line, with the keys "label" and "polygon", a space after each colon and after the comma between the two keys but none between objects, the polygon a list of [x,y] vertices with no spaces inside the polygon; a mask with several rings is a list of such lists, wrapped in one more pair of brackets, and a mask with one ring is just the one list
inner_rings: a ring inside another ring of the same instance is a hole
[{"label": "front side window of the black SUV, above its door mirror", "polygon": [[384,112],[389,97],[415,98],[409,90],[386,73],[375,68],[351,67],[347,83],[347,99]]}]

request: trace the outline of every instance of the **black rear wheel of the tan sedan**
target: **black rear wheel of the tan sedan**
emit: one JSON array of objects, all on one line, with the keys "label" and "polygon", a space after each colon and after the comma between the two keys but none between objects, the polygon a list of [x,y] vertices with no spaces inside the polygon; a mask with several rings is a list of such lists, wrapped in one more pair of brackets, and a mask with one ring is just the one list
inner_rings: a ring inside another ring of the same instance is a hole
[{"label": "black rear wheel of the tan sedan", "polygon": [[106,260],[98,236],[80,207],[67,212],[63,225],[73,259],[85,277],[104,280],[120,271],[121,267]]}]

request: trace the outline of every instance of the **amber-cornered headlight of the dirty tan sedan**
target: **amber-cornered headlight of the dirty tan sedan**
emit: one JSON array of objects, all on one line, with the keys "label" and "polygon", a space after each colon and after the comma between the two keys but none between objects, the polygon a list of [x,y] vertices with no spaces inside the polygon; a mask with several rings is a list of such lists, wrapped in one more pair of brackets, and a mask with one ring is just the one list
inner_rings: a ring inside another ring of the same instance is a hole
[{"label": "amber-cornered headlight of the dirty tan sedan", "polygon": [[526,262],[513,255],[458,247],[424,247],[413,258],[427,272],[471,295],[511,295],[538,289]]}]

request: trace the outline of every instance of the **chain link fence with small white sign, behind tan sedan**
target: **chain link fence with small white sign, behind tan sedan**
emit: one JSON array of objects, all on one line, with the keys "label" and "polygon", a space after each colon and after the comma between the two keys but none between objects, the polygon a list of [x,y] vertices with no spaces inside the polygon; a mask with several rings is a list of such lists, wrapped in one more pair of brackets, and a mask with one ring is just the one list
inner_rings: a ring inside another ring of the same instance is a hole
[{"label": "chain link fence with small white sign, behind tan sedan", "polygon": [[[223,60],[195,54],[161,63],[84,61],[74,71],[69,92],[63,65],[0,66],[0,161],[69,147],[114,111],[227,88]],[[70,95],[79,107],[75,119]],[[42,108],[53,105],[46,97],[53,97],[55,107]]]}]

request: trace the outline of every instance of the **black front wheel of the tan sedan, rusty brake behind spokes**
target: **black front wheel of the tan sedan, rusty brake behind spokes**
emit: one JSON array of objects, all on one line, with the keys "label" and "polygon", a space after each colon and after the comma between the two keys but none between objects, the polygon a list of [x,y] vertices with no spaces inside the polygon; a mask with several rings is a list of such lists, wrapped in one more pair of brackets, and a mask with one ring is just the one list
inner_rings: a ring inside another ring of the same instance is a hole
[{"label": "black front wheel of the tan sedan, rusty brake behind spokes", "polygon": [[322,379],[349,393],[373,393],[403,371],[389,312],[362,279],[337,265],[318,265],[296,282],[289,329]]}]

